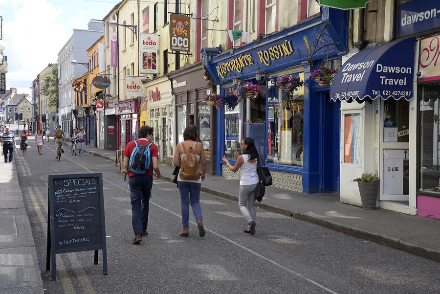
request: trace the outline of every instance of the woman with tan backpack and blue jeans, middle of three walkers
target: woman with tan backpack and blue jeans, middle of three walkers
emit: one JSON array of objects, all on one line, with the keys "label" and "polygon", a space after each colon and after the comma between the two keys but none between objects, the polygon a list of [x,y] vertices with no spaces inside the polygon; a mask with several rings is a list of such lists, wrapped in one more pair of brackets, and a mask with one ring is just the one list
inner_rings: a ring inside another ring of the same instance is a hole
[{"label": "woman with tan backpack and blue jeans, middle of three walkers", "polygon": [[[200,207],[200,187],[205,180],[206,158],[203,144],[198,142],[198,129],[195,125],[188,125],[183,132],[183,142],[176,145],[173,163],[180,168],[177,177],[177,186],[180,192],[182,209],[182,226],[180,236],[188,237],[189,234],[189,204],[196,217],[198,234],[205,235]],[[200,174],[199,162],[202,165]]]}]

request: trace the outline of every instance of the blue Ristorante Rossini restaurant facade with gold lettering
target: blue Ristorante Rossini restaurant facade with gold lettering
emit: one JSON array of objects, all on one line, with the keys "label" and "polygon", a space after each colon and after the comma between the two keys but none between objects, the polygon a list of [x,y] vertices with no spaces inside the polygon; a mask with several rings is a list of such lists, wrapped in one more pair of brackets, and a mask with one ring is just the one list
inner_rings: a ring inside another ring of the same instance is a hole
[{"label": "blue Ristorante Rossini restaurant facade with gold lettering", "polygon": [[[239,84],[259,84],[257,99],[243,98],[233,109],[216,112],[215,173],[238,177],[231,164],[243,137],[254,138],[274,185],[304,193],[339,189],[340,102],[330,101],[330,86],[310,78],[316,68],[337,69],[347,54],[347,11],[321,7],[321,14],[293,27],[219,54],[202,48],[204,67],[221,97]],[[282,75],[299,76],[304,86],[293,93],[276,86]]]}]

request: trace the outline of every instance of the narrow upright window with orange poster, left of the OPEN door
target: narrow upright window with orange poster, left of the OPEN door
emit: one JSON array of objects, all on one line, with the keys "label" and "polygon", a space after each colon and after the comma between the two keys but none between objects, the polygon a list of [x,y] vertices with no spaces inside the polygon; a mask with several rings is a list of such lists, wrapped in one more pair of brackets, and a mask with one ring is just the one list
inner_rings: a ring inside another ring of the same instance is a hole
[{"label": "narrow upright window with orange poster, left of the OPEN door", "polygon": [[344,163],[361,163],[361,115],[344,114]]}]

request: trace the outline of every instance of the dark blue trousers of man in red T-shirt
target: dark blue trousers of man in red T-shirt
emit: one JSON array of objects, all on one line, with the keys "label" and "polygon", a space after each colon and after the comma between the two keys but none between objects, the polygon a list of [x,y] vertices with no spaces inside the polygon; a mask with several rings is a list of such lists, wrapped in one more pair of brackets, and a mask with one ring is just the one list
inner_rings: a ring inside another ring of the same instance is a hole
[{"label": "dark blue trousers of man in red T-shirt", "polygon": [[146,232],[148,227],[148,210],[153,177],[149,175],[132,176],[129,184],[133,232],[134,234],[140,234]]}]

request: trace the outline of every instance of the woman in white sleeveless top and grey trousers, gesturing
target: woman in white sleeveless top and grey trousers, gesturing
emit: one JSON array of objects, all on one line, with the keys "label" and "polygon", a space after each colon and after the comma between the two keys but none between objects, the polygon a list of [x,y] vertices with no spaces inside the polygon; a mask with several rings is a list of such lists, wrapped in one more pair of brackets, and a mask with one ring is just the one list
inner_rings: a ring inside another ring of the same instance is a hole
[{"label": "woman in white sleeveless top and grey trousers, gesturing", "polygon": [[244,154],[237,158],[234,166],[229,164],[226,156],[223,156],[222,159],[234,173],[240,169],[239,208],[248,224],[244,232],[253,235],[257,225],[255,222],[255,191],[259,181],[257,174],[258,151],[255,148],[254,139],[250,137],[242,139],[242,152]]}]

